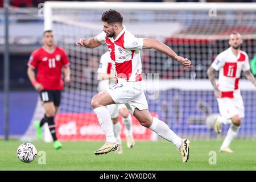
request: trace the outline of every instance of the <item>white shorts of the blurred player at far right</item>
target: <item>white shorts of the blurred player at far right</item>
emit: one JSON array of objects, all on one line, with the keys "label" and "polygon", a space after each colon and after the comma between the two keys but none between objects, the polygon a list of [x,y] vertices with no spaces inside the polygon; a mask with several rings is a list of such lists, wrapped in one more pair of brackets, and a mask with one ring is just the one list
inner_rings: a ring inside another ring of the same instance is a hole
[{"label": "white shorts of the blurred player at far right", "polygon": [[234,92],[234,98],[217,98],[218,109],[220,114],[226,119],[232,118],[234,115],[245,117],[245,107],[240,92]]}]

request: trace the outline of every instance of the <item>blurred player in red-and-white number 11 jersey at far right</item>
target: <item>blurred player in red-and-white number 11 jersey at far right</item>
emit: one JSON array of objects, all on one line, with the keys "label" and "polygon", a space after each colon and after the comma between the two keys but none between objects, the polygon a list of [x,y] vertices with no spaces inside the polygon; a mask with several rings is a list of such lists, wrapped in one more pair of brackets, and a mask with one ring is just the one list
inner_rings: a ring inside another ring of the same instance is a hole
[{"label": "blurred player in red-and-white number 11 jersey at far right", "polygon": [[[256,80],[250,71],[247,53],[240,50],[241,44],[241,35],[238,32],[233,32],[229,38],[230,47],[218,54],[207,71],[221,114],[221,117],[216,117],[214,129],[220,134],[222,124],[231,124],[220,148],[221,152],[233,152],[229,146],[236,137],[242,123],[242,118],[245,116],[238,84],[241,72],[243,71],[246,78],[256,86]],[[214,71],[219,71],[218,85],[215,82]]]}]

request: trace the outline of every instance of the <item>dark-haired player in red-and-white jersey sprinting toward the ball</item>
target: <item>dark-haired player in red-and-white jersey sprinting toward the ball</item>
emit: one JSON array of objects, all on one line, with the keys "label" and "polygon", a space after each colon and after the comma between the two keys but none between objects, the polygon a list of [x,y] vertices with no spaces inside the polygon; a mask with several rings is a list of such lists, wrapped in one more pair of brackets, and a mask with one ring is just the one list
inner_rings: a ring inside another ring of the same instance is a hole
[{"label": "dark-haired player in red-and-white jersey sprinting toward the ball", "polygon": [[154,39],[135,38],[123,26],[122,14],[115,10],[105,11],[101,17],[103,31],[89,40],[80,39],[77,44],[95,48],[106,43],[112,59],[117,84],[110,86],[92,98],[91,104],[106,135],[106,143],[94,154],[106,154],[118,147],[114,137],[112,120],[106,105],[125,104],[142,126],[154,131],[160,137],[174,143],[182,155],[183,162],[189,158],[189,140],[178,137],[163,121],[152,117],[142,88],[142,63],[139,50],[154,48],[178,61],[184,67],[192,67],[191,61],[178,56],[165,44]]}]

